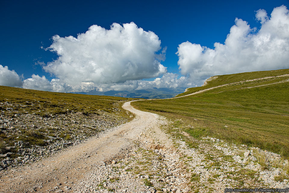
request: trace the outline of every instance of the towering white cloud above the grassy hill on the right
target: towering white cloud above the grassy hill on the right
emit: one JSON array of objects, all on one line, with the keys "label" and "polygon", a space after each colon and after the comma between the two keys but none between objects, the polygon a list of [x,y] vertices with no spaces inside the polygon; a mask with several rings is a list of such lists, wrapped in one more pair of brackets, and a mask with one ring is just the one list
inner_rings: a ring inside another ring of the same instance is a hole
[{"label": "towering white cloud above the grassy hill on the right", "polygon": [[224,44],[214,49],[190,42],[178,47],[179,69],[200,84],[212,75],[289,68],[289,15],[285,6],[256,12],[260,30],[235,19]]}]

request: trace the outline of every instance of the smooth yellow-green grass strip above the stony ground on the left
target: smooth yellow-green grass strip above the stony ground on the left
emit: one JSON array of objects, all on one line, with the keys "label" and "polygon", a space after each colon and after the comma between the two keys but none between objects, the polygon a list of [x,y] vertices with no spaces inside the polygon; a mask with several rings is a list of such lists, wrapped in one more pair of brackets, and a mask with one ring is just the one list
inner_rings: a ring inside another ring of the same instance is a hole
[{"label": "smooth yellow-green grass strip above the stony ground on the left", "polygon": [[[21,104],[21,108],[20,106],[14,106],[13,111],[18,111],[18,114],[35,113],[44,117],[68,112],[82,112],[83,114],[103,114],[107,112],[118,114],[121,117],[129,117],[129,114],[121,108],[122,104],[128,100],[132,99],[0,86],[1,103]],[[5,113],[8,113],[6,109],[4,110]]]}]

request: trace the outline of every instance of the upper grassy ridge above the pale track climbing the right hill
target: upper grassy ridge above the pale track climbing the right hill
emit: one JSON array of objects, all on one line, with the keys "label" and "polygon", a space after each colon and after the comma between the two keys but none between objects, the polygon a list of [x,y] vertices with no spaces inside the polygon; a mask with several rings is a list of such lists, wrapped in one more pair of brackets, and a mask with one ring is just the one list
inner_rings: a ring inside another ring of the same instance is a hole
[{"label": "upper grassy ridge above the pale track climbing the right hill", "polygon": [[[218,75],[218,76],[214,76],[214,77],[218,77],[215,80],[207,81],[207,84],[205,86],[189,88],[186,92],[180,93],[177,96],[184,96],[187,94],[191,94],[200,90],[204,90],[204,89],[211,88],[211,87],[216,87],[216,86],[223,85],[223,84],[229,84],[229,83],[234,83],[234,82],[239,82],[239,81],[244,81],[244,80],[253,80],[256,78],[278,76],[278,75],[283,75],[283,74],[289,74],[289,69]],[[274,81],[274,78],[272,79]],[[267,80],[264,80],[264,81],[267,81]]]}]

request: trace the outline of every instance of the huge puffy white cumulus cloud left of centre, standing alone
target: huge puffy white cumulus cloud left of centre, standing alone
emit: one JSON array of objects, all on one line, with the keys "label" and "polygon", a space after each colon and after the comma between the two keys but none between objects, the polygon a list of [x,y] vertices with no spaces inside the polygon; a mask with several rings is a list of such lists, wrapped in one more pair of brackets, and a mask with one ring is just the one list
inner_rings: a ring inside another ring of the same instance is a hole
[{"label": "huge puffy white cumulus cloud left of centre, standing alone", "polygon": [[53,36],[49,50],[57,60],[43,66],[61,83],[71,87],[87,84],[113,84],[156,77],[166,72],[160,64],[165,53],[158,36],[136,24],[113,23],[110,30],[92,25],[85,33]]}]

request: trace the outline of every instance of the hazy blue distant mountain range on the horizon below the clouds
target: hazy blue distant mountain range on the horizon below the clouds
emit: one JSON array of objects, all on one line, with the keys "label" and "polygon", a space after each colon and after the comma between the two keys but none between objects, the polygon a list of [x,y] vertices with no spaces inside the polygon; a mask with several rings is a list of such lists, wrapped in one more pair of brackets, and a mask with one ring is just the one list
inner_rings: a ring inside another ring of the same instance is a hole
[{"label": "hazy blue distant mountain range on the horizon below the clouds", "polygon": [[78,94],[90,94],[90,95],[105,95],[105,96],[120,96],[126,98],[143,98],[143,99],[166,99],[176,96],[179,93],[185,92],[186,87],[179,88],[151,88],[142,90],[110,90],[106,92],[89,91],[89,92],[76,92]]}]

